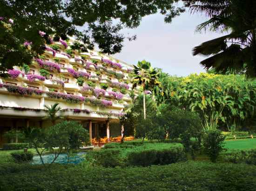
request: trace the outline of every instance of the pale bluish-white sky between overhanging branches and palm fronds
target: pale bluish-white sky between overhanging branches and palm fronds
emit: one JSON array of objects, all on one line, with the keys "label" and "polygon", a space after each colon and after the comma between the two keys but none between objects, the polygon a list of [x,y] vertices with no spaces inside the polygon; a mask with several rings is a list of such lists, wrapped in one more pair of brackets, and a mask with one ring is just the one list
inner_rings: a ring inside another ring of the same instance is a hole
[{"label": "pale bluish-white sky between overhanging branches and palm fronds", "polygon": [[128,64],[137,64],[145,59],[153,67],[176,76],[205,72],[199,65],[204,57],[193,57],[192,48],[222,36],[215,32],[195,33],[195,27],[206,20],[203,15],[188,12],[182,13],[170,24],[164,23],[164,16],[160,13],[146,16],[136,29],[122,31],[130,36],[136,34],[137,39],[125,41],[122,51],[113,57]]}]

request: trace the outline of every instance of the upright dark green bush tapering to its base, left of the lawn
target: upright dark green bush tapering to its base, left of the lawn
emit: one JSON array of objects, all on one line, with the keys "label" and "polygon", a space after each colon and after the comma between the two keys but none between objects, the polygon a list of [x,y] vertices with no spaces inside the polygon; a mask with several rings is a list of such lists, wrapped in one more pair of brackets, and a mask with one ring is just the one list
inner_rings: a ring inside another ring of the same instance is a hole
[{"label": "upright dark green bush tapering to its base, left of the lawn", "polygon": [[212,162],[216,162],[219,153],[223,150],[225,137],[220,130],[208,130],[203,136],[203,148]]}]

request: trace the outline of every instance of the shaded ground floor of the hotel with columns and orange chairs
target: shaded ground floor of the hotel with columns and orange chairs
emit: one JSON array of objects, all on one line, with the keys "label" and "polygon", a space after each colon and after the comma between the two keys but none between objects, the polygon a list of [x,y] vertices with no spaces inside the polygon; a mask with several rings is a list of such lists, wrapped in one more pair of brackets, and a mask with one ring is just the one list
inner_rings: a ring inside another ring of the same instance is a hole
[{"label": "shaded ground floor of the hotel with columns and orange chairs", "polygon": [[[18,136],[8,139],[4,136],[5,132],[14,129],[22,130],[26,127],[47,128],[52,126],[50,120],[45,119],[45,111],[11,111],[13,115],[9,115],[10,108],[0,109],[0,148],[4,143],[22,142]],[[15,114],[14,114],[15,113]],[[104,115],[94,114],[75,114],[73,111],[66,110],[62,112],[64,119],[67,121],[78,121],[89,132],[90,140],[94,146],[102,146],[107,142],[120,141],[122,137],[123,127],[120,126],[118,118],[107,118]],[[57,123],[58,121],[56,121]],[[132,138],[128,138],[132,139]]]}]

